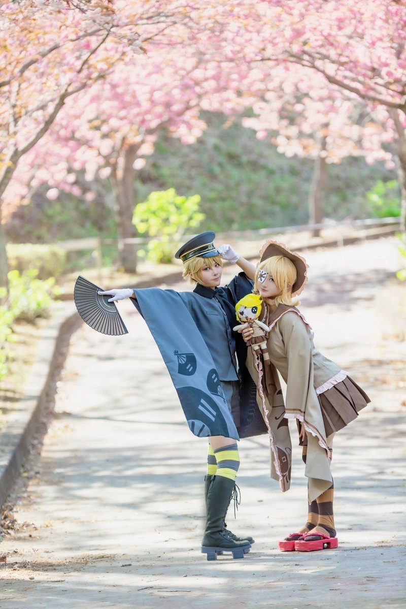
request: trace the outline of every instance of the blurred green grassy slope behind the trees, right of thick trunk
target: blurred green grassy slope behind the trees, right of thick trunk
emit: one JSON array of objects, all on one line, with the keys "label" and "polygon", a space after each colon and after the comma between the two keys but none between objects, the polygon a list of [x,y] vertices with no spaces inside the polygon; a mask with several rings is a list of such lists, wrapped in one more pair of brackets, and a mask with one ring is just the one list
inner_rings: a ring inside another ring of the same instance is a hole
[{"label": "blurred green grassy slope behind the trees, right of thick trunk", "polygon": [[[139,200],[154,189],[175,187],[180,194],[200,194],[208,219],[202,229],[243,230],[307,222],[307,197],[313,162],[288,159],[252,130],[212,116],[206,133],[192,146],[161,137],[138,182]],[[324,216],[368,217],[365,192],[379,178],[393,179],[382,164],[348,158],[328,167]]]}]

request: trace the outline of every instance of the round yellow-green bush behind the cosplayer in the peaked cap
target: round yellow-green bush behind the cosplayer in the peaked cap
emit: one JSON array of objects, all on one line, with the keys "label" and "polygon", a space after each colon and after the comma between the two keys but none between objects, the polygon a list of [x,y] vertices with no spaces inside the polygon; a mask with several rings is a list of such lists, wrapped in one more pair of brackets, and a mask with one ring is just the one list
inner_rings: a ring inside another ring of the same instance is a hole
[{"label": "round yellow-green bush behind the cosplayer in the peaked cap", "polygon": [[199,211],[199,203],[198,194],[182,197],[174,188],[151,192],[143,203],[138,203],[133,224],[139,234],[157,238],[149,241],[139,254],[152,262],[170,262],[186,230],[197,232],[205,219],[205,214]]}]

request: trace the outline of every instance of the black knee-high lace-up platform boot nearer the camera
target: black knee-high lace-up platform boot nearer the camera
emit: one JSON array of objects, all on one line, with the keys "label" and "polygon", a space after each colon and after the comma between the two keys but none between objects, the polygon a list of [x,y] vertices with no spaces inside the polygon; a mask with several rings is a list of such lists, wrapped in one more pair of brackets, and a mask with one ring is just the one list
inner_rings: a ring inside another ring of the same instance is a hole
[{"label": "black knee-high lace-up platform boot nearer the camera", "polygon": [[248,540],[233,540],[223,529],[234,484],[234,480],[224,476],[212,476],[206,500],[205,534],[201,542],[201,552],[207,554],[208,560],[215,560],[219,552],[233,552],[233,558],[243,558],[244,550],[251,547]]}]

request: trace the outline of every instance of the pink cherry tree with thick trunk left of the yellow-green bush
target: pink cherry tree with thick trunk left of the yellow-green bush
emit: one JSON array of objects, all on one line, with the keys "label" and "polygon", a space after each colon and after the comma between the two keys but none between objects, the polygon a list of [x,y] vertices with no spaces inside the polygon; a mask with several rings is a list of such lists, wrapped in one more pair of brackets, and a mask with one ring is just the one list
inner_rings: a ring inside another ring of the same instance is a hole
[{"label": "pink cherry tree with thick trunk left of the yellow-green bush", "polygon": [[[136,248],[128,243],[135,236],[135,172],[153,153],[158,133],[167,130],[183,144],[194,143],[206,128],[202,109],[236,113],[254,99],[252,93],[237,94],[234,66],[202,64],[193,51],[189,55],[152,49],[136,65],[131,58],[122,62],[79,100],[68,100],[46,135],[21,160],[5,193],[7,212],[43,183],[51,200],[60,190],[89,198],[94,178],[108,178],[116,198],[119,237],[127,240],[122,241],[121,265],[135,272]],[[247,67],[245,71],[249,74]],[[79,187],[78,172],[85,174],[87,192]]]}]

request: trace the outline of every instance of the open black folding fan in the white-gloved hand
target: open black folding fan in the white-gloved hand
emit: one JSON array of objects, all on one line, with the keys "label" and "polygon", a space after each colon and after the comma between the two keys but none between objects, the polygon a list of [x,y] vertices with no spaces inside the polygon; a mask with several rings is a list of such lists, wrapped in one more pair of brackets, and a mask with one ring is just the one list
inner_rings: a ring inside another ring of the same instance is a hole
[{"label": "open black folding fan in the white-gloved hand", "polygon": [[101,287],[79,275],[75,283],[73,297],[80,317],[88,326],[110,336],[128,334],[116,303],[109,303],[111,296],[100,296]]}]

